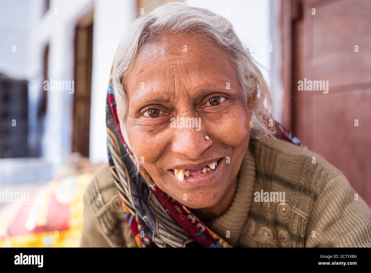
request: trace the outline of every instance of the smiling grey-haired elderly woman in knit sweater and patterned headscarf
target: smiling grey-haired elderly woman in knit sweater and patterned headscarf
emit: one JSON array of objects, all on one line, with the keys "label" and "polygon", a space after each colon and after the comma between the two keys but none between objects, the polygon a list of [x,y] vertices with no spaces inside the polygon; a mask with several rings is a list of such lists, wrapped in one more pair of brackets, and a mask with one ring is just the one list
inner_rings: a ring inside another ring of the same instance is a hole
[{"label": "smiling grey-haired elderly woman in knit sweater and patterned headscarf", "polygon": [[371,247],[365,202],[270,102],[228,20],[183,3],[136,19],[111,72],[109,163],[86,189],[81,246]]}]

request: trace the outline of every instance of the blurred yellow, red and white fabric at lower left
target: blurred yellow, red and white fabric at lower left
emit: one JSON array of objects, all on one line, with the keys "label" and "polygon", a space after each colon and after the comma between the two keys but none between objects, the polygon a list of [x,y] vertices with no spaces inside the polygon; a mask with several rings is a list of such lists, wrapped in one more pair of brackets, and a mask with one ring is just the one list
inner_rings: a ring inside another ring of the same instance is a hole
[{"label": "blurred yellow, red and white fabric at lower left", "polygon": [[27,203],[0,209],[1,247],[79,247],[83,193],[92,174],[49,182],[29,195]]}]

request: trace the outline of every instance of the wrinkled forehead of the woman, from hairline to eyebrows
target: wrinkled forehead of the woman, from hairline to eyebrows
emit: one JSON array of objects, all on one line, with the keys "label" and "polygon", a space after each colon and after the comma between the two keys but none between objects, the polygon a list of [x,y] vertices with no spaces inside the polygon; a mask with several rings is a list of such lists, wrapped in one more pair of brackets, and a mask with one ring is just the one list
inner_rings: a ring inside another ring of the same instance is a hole
[{"label": "wrinkled forehead of the woman, from hairline to eyebrows", "polygon": [[225,88],[237,81],[237,74],[230,56],[209,39],[173,34],[146,42],[124,80],[130,97],[148,88]]}]

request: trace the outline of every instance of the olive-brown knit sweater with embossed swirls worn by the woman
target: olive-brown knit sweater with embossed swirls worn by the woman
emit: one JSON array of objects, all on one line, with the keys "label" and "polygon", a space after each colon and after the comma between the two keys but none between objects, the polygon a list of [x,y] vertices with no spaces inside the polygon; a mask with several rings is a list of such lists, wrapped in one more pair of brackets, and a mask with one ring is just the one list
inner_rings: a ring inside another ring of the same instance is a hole
[{"label": "olive-brown knit sweater with embossed swirls worn by the woman", "polygon": [[[251,131],[232,204],[205,222],[211,230],[234,247],[371,247],[370,209],[338,169],[305,148],[258,136]],[[281,194],[285,204],[262,192]],[[82,247],[137,247],[108,163],[84,204]]]}]

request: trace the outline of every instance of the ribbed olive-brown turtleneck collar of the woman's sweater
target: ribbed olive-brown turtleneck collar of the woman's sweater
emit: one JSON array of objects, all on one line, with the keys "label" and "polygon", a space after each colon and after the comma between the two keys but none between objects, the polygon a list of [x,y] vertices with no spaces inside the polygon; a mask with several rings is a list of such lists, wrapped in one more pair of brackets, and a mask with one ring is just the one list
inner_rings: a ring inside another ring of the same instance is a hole
[{"label": "ribbed olive-brown turtleneck collar of the woman's sweater", "polygon": [[225,238],[224,240],[233,247],[236,246],[240,238],[253,199],[256,167],[255,156],[253,151],[250,150],[250,146],[251,142],[238,173],[236,194],[230,207],[222,215],[205,223],[207,227],[222,238],[225,238],[226,232],[230,231],[230,238]]}]

